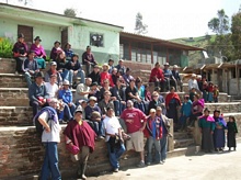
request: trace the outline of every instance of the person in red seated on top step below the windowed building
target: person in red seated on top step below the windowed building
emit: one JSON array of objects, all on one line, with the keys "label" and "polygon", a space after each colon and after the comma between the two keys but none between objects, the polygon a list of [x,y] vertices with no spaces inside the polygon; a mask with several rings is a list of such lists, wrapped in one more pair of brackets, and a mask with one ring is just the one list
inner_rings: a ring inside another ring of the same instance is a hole
[{"label": "person in red seated on top step below the windowed building", "polygon": [[159,63],[154,64],[154,68],[151,70],[149,82],[154,82],[154,87],[164,87],[164,74]]}]

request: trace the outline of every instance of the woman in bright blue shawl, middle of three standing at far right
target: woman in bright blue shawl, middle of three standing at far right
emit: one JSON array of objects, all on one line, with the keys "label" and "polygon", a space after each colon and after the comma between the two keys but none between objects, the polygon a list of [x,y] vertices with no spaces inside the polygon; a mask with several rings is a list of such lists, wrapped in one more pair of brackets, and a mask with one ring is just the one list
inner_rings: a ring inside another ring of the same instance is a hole
[{"label": "woman in bright blue shawl, middle of three standing at far right", "polygon": [[220,111],[214,111],[214,119],[215,119],[215,132],[214,132],[214,145],[215,150],[223,150],[225,148],[225,128],[227,126],[222,116],[220,116]]}]

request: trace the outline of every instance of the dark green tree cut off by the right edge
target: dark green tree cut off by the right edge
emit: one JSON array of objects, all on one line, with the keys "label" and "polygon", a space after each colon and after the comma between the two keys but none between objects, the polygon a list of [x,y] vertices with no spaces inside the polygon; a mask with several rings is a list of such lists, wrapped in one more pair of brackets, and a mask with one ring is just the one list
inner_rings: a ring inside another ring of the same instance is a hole
[{"label": "dark green tree cut off by the right edge", "polygon": [[234,46],[234,58],[241,58],[241,12],[232,15],[231,41]]}]

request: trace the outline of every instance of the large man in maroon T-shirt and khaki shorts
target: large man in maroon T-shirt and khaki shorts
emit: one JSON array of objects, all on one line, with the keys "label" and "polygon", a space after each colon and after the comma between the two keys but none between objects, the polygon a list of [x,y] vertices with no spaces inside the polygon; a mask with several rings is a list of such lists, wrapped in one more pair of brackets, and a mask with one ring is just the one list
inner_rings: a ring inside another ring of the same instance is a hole
[{"label": "large man in maroon T-shirt and khaki shorts", "polygon": [[140,162],[138,167],[145,167],[144,157],[144,130],[147,124],[147,117],[139,109],[135,109],[133,101],[128,100],[127,109],[123,111],[120,119],[124,120],[127,134],[130,135],[130,140],[126,142],[127,150],[134,149],[140,154]]}]

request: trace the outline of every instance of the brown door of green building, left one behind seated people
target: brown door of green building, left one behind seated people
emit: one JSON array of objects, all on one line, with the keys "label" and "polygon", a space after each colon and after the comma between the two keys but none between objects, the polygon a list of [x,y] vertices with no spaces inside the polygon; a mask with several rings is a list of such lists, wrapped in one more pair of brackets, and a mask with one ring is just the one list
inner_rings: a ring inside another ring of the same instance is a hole
[{"label": "brown door of green building, left one behind seated people", "polygon": [[24,35],[24,41],[30,49],[33,43],[33,26],[18,25],[18,34],[20,33]]}]

